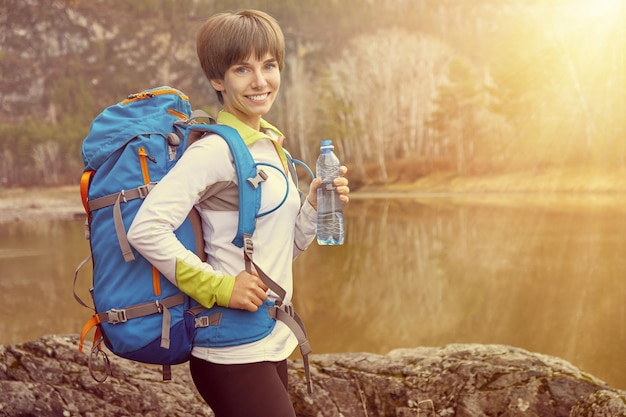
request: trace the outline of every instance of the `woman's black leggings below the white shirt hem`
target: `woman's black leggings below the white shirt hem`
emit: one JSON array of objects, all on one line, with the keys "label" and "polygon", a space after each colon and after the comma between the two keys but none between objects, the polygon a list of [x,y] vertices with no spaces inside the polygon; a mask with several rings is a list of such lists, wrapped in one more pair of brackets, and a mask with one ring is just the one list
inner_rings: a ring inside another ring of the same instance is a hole
[{"label": "woman's black leggings below the white shirt hem", "polygon": [[191,376],[215,417],[295,417],[287,361],[220,365],[191,357]]}]

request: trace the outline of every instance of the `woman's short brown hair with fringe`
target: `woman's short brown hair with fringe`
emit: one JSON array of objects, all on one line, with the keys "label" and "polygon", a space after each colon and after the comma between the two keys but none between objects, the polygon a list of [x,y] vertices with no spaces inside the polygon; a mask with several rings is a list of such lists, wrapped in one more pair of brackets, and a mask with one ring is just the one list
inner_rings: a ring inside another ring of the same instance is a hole
[{"label": "woman's short brown hair with fringe", "polygon": [[[270,53],[282,71],[285,39],[278,22],[259,10],[219,13],[202,24],[196,35],[196,52],[209,80],[223,80],[228,68],[254,52],[257,59]],[[223,102],[218,91],[217,96]]]}]

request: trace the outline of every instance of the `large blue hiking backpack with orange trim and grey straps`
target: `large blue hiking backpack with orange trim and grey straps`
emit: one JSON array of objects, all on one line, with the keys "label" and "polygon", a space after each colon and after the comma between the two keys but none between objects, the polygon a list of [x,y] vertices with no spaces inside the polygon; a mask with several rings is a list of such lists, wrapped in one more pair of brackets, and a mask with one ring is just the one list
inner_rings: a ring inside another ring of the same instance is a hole
[{"label": "large blue hiking backpack with orange trim and grey straps", "polygon": [[[264,178],[237,131],[197,123],[182,92],[164,86],[132,94],[98,115],[83,141],[85,169],[80,189],[91,255],[76,270],[74,286],[78,271],[91,259],[95,314],[81,332],[79,350],[95,327],[89,371],[96,380],[104,381],[110,374],[102,343],[123,358],[164,365],[164,379],[169,379],[169,365],[189,359],[197,303],[130,246],[126,231],[143,199],[180,159],[190,140],[207,132],[228,143],[235,161],[240,212],[233,243],[243,247],[245,236],[254,232],[260,206],[258,184]],[[195,209],[175,233],[186,248],[205,259]],[[74,296],[92,308],[76,290]],[[106,365],[104,379],[92,369],[92,359],[99,354]]]}]

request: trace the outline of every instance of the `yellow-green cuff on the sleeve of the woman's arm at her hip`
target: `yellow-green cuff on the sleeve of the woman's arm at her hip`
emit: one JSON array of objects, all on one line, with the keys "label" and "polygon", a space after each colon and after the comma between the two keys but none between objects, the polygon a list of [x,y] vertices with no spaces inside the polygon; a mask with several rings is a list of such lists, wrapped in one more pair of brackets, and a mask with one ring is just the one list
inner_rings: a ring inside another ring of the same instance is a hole
[{"label": "yellow-green cuff on the sleeve of the woman's arm at her hip", "polygon": [[235,277],[206,272],[177,259],[176,283],[182,292],[206,308],[213,307],[216,303],[228,307],[235,287]]}]

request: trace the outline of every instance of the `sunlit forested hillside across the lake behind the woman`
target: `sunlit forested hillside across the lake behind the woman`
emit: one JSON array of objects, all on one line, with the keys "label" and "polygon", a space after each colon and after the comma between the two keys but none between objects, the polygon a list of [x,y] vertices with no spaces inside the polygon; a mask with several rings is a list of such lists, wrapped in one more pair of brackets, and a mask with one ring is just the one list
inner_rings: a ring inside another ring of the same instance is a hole
[{"label": "sunlit forested hillside across the lake behind the woman", "polygon": [[622,0],[2,0],[0,188],[76,184],[108,105],[170,85],[219,107],[195,55],[216,12],[257,8],[287,42],[267,119],[351,183],[626,166]]}]

